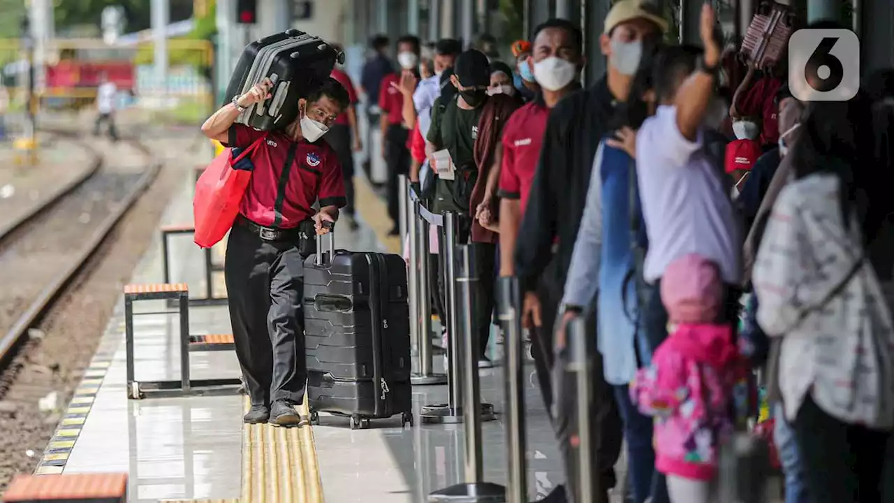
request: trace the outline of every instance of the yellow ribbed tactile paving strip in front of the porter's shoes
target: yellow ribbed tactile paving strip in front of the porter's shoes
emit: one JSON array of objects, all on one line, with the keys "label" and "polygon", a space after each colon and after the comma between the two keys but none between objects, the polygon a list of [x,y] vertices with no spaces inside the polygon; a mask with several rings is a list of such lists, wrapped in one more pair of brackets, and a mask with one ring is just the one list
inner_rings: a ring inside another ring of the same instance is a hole
[{"label": "yellow ribbed tactile paving strip in front of the porter's shoes", "polygon": [[[249,410],[245,398],[244,410]],[[307,402],[299,406],[308,417]],[[308,422],[294,428],[242,426],[241,503],[323,503],[314,433]]]}]

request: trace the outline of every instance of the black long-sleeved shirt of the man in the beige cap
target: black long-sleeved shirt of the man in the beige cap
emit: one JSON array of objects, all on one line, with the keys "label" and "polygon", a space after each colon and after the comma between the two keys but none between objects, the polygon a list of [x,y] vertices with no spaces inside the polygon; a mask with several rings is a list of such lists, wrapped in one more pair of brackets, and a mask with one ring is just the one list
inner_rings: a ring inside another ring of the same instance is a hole
[{"label": "black long-sleeved shirt of the man in the beige cap", "polygon": [[610,127],[614,110],[615,99],[605,77],[552,108],[515,248],[516,271],[523,291],[536,289],[553,259],[552,244],[556,238],[558,262],[551,268],[555,277],[544,279],[565,284],[584,215],[596,149]]}]

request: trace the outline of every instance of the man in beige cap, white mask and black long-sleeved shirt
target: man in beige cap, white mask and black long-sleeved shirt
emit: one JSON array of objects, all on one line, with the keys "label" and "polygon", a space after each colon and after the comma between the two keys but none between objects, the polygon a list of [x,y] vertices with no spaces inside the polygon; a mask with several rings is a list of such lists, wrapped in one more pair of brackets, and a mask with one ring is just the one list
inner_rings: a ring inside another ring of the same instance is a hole
[{"label": "man in beige cap, white mask and black long-sleeved shirt", "polygon": [[[528,326],[552,336],[559,313],[562,289],[568,274],[578,226],[586,206],[586,193],[599,139],[608,132],[609,121],[619,101],[627,98],[637,72],[645,38],[660,38],[667,30],[654,4],[644,0],[620,0],[605,17],[600,39],[608,71],[592,87],[578,91],[552,109],[546,123],[540,161],[528,196],[515,250],[516,274],[524,295],[523,316]],[[558,242],[557,242],[558,241]],[[590,306],[572,306],[592,311]],[[595,316],[587,325],[595,331]],[[552,344],[552,341],[546,344]],[[620,455],[621,425],[613,389],[604,380],[602,357],[595,355],[595,383],[591,429],[598,439],[592,453],[598,482],[598,498],[608,501],[615,485],[613,466]],[[553,375],[555,375],[553,373]],[[557,401],[557,428],[561,451],[568,466],[569,483],[578,472],[577,452],[572,447],[573,416],[577,406],[568,399]],[[573,491],[572,491],[573,492]]]}]

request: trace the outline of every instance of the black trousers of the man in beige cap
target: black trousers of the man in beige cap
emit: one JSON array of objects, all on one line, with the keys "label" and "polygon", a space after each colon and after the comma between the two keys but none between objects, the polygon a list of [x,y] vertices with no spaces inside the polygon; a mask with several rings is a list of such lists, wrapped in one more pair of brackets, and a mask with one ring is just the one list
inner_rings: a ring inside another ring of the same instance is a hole
[{"label": "black trousers of the man in beige cap", "polygon": [[[531,353],[534,357],[537,380],[540,383],[541,392],[544,395],[544,405],[550,411],[552,425],[559,441],[559,450],[565,465],[565,473],[568,479],[569,501],[573,501],[570,495],[577,491],[577,481],[580,473],[578,448],[573,444],[578,434],[578,403],[577,382],[575,374],[565,371],[569,354],[565,351],[553,351],[553,333],[556,324],[556,315],[561,303],[561,294],[564,285],[554,280],[552,273],[554,264],[550,264],[544,272],[543,279],[538,286],[538,297],[541,303],[543,326],[531,331]],[[587,333],[595,335],[595,313],[587,316]],[[589,410],[589,427],[593,432],[594,449],[590,452],[590,465],[594,473],[589,477],[598,480],[598,493],[596,502],[608,503],[608,491],[617,483],[614,465],[618,462],[622,439],[624,437],[623,425],[620,418],[618,404],[615,401],[614,389],[605,382],[603,373],[603,357],[595,350],[595,341],[591,345],[591,362],[593,369],[593,383],[591,402],[584,406]],[[553,407],[553,405],[555,405]],[[590,503],[590,502],[578,502]]]}]

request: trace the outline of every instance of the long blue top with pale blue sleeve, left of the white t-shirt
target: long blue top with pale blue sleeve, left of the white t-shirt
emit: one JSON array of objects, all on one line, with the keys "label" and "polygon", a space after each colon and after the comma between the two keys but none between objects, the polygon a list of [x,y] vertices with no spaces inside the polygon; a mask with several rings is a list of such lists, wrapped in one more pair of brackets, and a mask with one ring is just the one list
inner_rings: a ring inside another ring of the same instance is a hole
[{"label": "long blue top with pale blue sleeve, left of the white t-shirt", "polygon": [[[637,371],[645,337],[637,337],[637,293],[633,281],[625,279],[634,268],[630,235],[630,183],[632,159],[626,152],[600,143],[586,192],[586,208],[571,254],[568,280],[562,303],[589,306],[598,290],[596,340],[603,354],[605,381],[628,384]],[[636,188],[634,187],[636,193]],[[603,211],[603,208],[611,211]],[[639,201],[633,210],[645,228]]]}]

